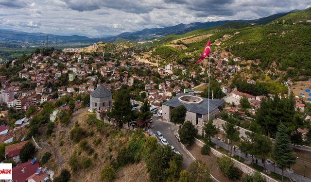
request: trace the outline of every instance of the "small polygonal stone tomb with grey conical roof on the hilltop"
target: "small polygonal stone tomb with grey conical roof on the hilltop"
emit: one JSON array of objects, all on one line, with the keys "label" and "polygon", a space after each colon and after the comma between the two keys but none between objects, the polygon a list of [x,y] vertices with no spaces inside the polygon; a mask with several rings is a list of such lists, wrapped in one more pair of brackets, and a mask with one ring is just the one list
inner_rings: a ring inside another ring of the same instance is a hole
[{"label": "small polygonal stone tomb with grey conical roof on the hilltop", "polygon": [[100,84],[89,97],[89,109],[104,109],[112,106],[112,94]]}]

